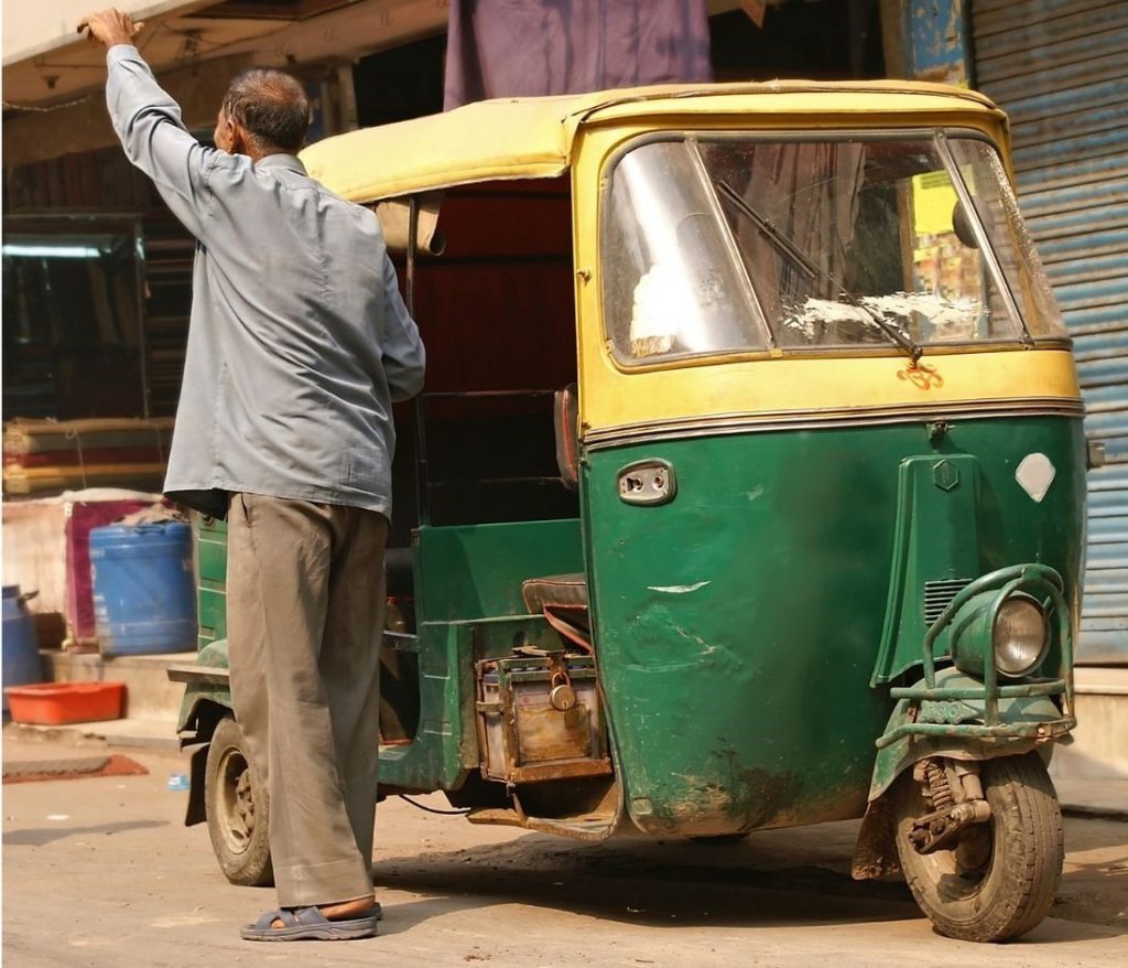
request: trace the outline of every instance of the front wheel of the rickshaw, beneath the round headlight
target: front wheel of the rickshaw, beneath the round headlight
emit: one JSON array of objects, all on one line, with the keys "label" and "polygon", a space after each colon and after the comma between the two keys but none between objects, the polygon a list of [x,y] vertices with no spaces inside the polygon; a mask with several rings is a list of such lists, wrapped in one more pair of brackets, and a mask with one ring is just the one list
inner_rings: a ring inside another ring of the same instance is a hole
[{"label": "front wheel of the rickshaw, beneath the round headlight", "polygon": [[980,765],[990,819],[952,849],[918,854],[908,832],[932,809],[913,770],[898,780],[897,853],[909,889],[936,930],[961,941],[1010,941],[1054,904],[1065,860],[1061,808],[1036,752]]}]

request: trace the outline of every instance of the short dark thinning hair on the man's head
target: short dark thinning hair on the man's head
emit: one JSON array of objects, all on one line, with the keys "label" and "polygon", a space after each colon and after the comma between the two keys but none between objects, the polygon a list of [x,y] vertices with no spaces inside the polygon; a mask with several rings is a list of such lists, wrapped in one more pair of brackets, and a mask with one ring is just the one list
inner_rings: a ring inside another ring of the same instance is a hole
[{"label": "short dark thinning hair on the man's head", "polygon": [[309,130],[309,95],[296,77],[270,68],[237,75],[223,95],[223,114],[259,148],[297,151]]}]

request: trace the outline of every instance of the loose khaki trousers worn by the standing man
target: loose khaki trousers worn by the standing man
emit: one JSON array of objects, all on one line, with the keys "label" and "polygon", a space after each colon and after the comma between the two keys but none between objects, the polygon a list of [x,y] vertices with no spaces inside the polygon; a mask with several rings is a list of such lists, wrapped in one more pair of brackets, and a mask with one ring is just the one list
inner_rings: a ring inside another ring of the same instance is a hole
[{"label": "loose khaki trousers worn by the standing man", "polygon": [[230,499],[231,698],[270,795],[282,907],[372,892],[387,535],[372,511]]}]

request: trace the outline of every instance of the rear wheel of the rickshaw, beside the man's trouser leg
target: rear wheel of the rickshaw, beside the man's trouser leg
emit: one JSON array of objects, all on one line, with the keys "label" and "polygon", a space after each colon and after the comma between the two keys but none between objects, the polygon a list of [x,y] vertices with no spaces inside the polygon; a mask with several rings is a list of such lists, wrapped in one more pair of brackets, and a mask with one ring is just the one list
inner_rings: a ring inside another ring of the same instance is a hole
[{"label": "rear wheel of the rickshaw, beside the man's trouser leg", "polygon": [[223,875],[243,887],[274,883],[266,790],[230,716],[212,734],[204,773],[208,834]]}]

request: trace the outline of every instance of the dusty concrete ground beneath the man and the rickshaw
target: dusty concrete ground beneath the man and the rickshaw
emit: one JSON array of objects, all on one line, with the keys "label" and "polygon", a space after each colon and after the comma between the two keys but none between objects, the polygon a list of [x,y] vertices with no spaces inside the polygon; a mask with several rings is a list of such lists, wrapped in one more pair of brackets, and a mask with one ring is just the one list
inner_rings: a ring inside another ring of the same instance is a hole
[{"label": "dusty concrete ground beneath the man and the rickshaw", "polygon": [[[117,729],[111,742],[124,744],[107,751],[148,775],[3,786],[8,965],[1128,963],[1128,822],[1108,819],[1125,816],[1123,784],[1075,794],[1089,805],[1099,795],[1108,802],[1096,814],[1067,816],[1054,916],[1003,947],[936,935],[900,882],[852,881],[856,822],[765,831],[725,847],[584,845],[475,827],[398,799],[378,812],[380,938],[253,944],[238,926],[273,907],[273,891],[229,884],[206,829],[183,826],[187,794],[167,788],[169,775],[186,771],[175,747],[142,742],[136,726]],[[9,726],[5,761],[96,755],[106,743]]]}]

